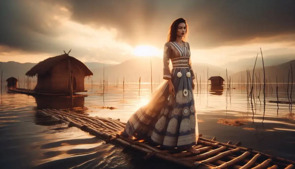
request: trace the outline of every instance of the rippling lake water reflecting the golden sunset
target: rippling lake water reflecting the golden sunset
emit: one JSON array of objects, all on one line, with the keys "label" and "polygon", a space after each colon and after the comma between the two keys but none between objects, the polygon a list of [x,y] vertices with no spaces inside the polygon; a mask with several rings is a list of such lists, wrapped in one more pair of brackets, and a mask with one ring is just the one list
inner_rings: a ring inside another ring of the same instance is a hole
[{"label": "rippling lake water reflecting the golden sunset", "polygon": [[[153,85],[153,89],[158,84]],[[264,111],[262,89],[256,87],[253,109],[247,90],[235,84],[230,92],[226,89],[194,90],[199,133],[204,138],[233,144],[242,142],[243,147],[295,160],[294,111],[289,104],[269,103],[276,100],[276,87],[268,86]],[[86,84],[88,97],[74,98],[74,110],[89,116],[119,118],[126,122],[150,97],[150,84],[108,85],[102,88]],[[293,91],[295,86],[293,86]],[[256,95],[257,93],[257,95]],[[293,92],[295,93],[295,92]],[[279,100],[288,100],[286,86],[280,85]],[[292,95],[295,99],[295,94]],[[254,103],[255,101],[255,103]],[[101,109],[112,106],[116,109]],[[65,99],[35,98],[25,94],[10,94],[3,91],[0,102],[0,166],[1,168],[177,168],[161,160],[142,160],[142,154],[114,144],[105,144],[101,139],[68,127],[50,116],[37,113],[37,109],[69,109]],[[294,108],[293,108],[294,110]],[[241,126],[217,123],[219,119],[247,119]]]}]

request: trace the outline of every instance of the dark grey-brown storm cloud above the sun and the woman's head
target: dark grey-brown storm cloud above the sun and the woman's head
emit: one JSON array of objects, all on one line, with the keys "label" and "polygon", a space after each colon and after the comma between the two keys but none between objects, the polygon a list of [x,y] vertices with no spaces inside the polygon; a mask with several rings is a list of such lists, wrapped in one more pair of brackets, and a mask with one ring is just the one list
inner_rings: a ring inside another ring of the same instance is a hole
[{"label": "dark grey-brown storm cloud above the sun and the woman's head", "polygon": [[[156,43],[157,37],[165,39],[171,22],[178,17],[188,21],[189,41],[196,47],[242,44],[253,38],[295,33],[294,0],[67,2],[74,20],[115,27],[135,43]],[[141,40],[136,39],[138,34]]]}]

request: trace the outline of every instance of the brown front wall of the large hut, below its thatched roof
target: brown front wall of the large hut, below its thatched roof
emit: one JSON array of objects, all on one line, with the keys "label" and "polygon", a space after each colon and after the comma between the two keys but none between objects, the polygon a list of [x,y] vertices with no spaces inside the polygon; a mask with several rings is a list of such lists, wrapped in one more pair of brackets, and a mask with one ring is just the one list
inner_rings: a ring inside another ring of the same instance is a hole
[{"label": "brown front wall of the large hut, below its thatched roof", "polygon": [[[84,91],[84,71],[75,62],[71,62],[72,77],[76,79],[76,89],[73,91]],[[68,60],[63,60],[51,69],[52,91],[67,92],[69,83]]]}]

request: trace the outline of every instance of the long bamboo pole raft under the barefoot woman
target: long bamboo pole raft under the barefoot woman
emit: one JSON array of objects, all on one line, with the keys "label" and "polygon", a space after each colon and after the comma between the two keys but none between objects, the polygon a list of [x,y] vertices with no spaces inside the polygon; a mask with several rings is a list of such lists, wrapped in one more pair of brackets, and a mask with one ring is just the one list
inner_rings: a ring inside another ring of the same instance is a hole
[{"label": "long bamboo pole raft under the barefoot woman", "polygon": [[106,144],[113,142],[122,147],[146,154],[145,160],[153,156],[182,165],[183,167],[199,169],[292,169],[295,165],[295,162],[291,160],[273,157],[249,148],[240,147],[241,142],[234,145],[232,145],[231,141],[222,143],[216,141],[216,137],[212,140],[203,138],[201,137],[202,134],[199,134],[197,144],[194,146],[194,149],[200,152],[197,155],[177,148],[165,150],[160,146],[150,146],[145,140],[124,138],[119,135],[118,132],[123,130],[126,125],[120,119],[90,117],[70,110],[43,109],[37,111],[99,136],[106,141]]}]

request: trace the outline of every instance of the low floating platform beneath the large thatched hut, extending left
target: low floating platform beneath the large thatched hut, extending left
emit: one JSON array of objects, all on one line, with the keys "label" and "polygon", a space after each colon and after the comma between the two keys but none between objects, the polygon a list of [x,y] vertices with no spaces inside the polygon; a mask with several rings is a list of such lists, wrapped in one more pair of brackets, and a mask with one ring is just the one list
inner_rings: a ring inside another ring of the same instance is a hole
[{"label": "low floating platform beneath the large thatched hut, extending left", "polygon": [[[31,96],[36,96],[36,95],[44,95],[44,96],[70,96],[69,92],[49,92],[49,91],[35,91],[31,89],[26,89],[26,88],[10,88],[7,87],[7,90],[9,92],[14,92],[14,93],[21,93],[21,94],[27,94]],[[73,91],[75,92],[75,91]],[[79,91],[79,92],[87,92],[85,91]],[[85,96],[82,94],[74,94],[74,96]]]}]

